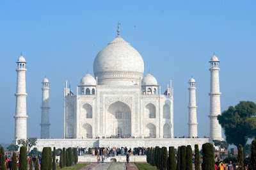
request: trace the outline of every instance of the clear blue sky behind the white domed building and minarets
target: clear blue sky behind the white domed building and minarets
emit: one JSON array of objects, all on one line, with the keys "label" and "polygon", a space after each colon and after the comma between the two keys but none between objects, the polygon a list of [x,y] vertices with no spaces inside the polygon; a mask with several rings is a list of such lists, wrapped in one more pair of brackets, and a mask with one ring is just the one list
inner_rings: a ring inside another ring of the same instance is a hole
[{"label": "clear blue sky behind the white domed building and minarets", "polygon": [[209,136],[209,59],[220,59],[221,111],[256,102],[256,1],[0,1],[0,143],[14,137],[15,61],[26,73],[28,137],[40,137],[42,80],[51,82],[51,137],[63,137],[63,88],[73,91],[97,53],[120,35],[140,52],[162,93],[172,79],[174,135],[188,135],[188,81],[196,80],[198,134]]}]

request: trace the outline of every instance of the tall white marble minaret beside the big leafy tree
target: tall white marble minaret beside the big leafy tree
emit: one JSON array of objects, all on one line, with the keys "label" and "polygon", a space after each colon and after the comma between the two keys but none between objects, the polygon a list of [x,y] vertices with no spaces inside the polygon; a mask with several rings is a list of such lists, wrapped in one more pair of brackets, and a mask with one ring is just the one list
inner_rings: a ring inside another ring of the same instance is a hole
[{"label": "tall white marble minaret beside the big leafy tree", "polygon": [[211,58],[211,89],[210,89],[210,139],[223,140],[221,137],[221,125],[217,120],[217,116],[221,114],[220,110],[220,82],[219,82],[219,63],[220,61],[214,55]]}]

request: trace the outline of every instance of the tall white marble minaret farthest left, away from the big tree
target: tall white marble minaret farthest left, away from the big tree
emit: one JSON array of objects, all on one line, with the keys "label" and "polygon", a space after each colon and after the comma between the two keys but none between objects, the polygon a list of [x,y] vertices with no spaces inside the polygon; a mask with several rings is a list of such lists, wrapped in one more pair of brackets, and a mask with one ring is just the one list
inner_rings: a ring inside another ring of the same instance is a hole
[{"label": "tall white marble minaret farthest left, away from the big tree", "polygon": [[16,96],[16,113],[15,118],[15,139],[14,142],[19,139],[27,139],[27,106],[26,106],[26,60],[22,55],[16,62],[18,68],[17,72],[17,93]]}]

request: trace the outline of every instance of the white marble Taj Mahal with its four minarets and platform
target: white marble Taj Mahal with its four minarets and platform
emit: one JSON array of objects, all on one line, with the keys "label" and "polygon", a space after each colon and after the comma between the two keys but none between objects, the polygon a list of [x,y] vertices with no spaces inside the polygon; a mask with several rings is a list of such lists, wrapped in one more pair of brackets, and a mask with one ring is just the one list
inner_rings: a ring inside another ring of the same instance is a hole
[{"label": "white marble Taj Mahal with its four minarets and platform", "polygon": [[[36,147],[155,147],[198,144],[223,140],[217,116],[220,109],[219,63],[214,55],[210,59],[210,132],[209,138],[198,138],[196,118],[196,81],[188,81],[188,136],[173,137],[173,88],[172,81],[161,88],[157,79],[144,72],[140,53],[118,35],[100,50],[93,62],[93,75],[81,78],[76,91],[64,88],[63,139],[49,139],[51,95],[50,84],[42,81],[41,139]],[[17,63],[17,93],[15,113],[15,138],[27,138],[26,113],[26,60],[20,56]],[[143,75],[145,76],[143,77]],[[60,86],[60,88],[63,88]],[[62,100],[60,98],[60,100]],[[206,113],[205,113],[206,114]],[[199,122],[200,123],[200,122]]]}]

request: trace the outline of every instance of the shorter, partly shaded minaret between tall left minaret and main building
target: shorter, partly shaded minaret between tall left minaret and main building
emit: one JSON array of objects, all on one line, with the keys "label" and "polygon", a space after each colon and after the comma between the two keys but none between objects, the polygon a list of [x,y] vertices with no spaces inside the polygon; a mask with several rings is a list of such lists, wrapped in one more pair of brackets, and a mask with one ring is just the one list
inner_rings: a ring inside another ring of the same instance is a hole
[{"label": "shorter, partly shaded minaret between tall left minaret and main building", "polygon": [[42,88],[42,117],[41,117],[41,139],[49,139],[50,138],[50,118],[49,118],[49,81],[45,77]]}]

